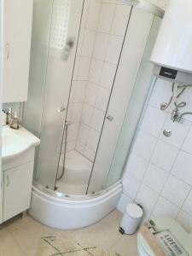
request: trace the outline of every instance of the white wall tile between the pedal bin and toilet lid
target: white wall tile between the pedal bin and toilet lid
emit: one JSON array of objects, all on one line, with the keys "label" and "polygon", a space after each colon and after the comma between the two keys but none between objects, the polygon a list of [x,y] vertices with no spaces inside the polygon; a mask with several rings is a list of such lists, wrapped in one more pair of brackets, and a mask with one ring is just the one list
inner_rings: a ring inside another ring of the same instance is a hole
[{"label": "white wall tile between the pedal bin and toilet lid", "polygon": [[154,207],[153,215],[155,217],[170,217],[176,218],[179,208],[173,205],[170,201],[160,197]]}]

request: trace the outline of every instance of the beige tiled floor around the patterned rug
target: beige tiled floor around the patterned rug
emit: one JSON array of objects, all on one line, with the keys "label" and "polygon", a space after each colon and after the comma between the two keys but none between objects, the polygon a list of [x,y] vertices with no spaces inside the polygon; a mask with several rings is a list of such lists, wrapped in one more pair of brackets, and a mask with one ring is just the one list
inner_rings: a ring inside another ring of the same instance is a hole
[{"label": "beige tiled floor around the patterned rug", "polygon": [[114,211],[99,223],[81,230],[55,230],[29,216],[18,217],[0,226],[0,256],[35,256],[42,236],[60,236],[121,256],[137,256],[136,236],[119,234],[120,218],[121,213]]}]

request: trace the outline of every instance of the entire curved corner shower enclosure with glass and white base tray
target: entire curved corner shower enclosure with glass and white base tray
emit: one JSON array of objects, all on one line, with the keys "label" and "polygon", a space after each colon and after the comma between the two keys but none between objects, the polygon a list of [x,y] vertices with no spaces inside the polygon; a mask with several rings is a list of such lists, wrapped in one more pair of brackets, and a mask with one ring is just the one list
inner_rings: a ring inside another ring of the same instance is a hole
[{"label": "entire curved corner shower enclosure with glass and white base tray", "polygon": [[[131,3],[34,0],[23,124],[41,140],[31,214],[45,224],[91,224],[119,199],[120,178],[153,80],[149,57],[163,15],[146,1]],[[63,214],[73,214],[65,210],[70,200],[80,208],[81,201],[100,195],[105,206],[108,202],[106,210],[97,209],[87,222],[61,224]]]}]

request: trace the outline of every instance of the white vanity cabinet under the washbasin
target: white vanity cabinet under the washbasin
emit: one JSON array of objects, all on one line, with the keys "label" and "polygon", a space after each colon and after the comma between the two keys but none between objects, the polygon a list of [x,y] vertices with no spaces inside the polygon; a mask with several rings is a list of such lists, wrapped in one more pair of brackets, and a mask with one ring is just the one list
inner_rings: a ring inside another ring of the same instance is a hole
[{"label": "white vanity cabinet under the washbasin", "polygon": [[35,148],[3,162],[0,223],[30,207]]}]

